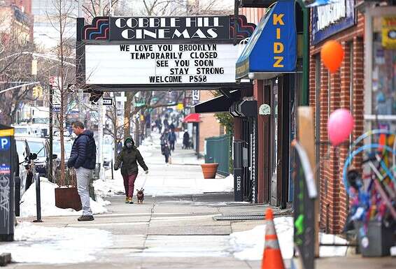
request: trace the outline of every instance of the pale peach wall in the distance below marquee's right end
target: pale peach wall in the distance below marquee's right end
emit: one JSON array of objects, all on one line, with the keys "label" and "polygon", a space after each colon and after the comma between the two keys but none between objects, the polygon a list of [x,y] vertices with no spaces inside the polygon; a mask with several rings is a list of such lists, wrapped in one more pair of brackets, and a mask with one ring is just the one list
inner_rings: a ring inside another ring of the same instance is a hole
[{"label": "pale peach wall in the distance below marquee's right end", "polygon": [[[210,91],[201,91],[199,94],[199,101],[206,101],[213,98]],[[214,113],[201,113],[201,122],[199,122],[199,152],[204,155],[205,138],[212,136],[220,136],[220,124],[214,117]]]}]

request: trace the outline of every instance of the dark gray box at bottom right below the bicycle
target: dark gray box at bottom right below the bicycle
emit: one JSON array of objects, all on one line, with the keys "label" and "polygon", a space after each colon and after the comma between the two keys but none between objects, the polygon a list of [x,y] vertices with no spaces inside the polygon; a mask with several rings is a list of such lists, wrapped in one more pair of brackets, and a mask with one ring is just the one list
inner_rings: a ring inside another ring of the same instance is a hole
[{"label": "dark gray box at bottom right below the bicycle", "polygon": [[369,221],[367,238],[369,239],[369,246],[362,246],[362,238],[359,233],[362,222],[355,223],[358,233],[358,244],[362,256],[365,257],[381,257],[390,255],[390,247],[395,245],[393,239],[393,232],[395,226],[386,227],[379,221]]}]

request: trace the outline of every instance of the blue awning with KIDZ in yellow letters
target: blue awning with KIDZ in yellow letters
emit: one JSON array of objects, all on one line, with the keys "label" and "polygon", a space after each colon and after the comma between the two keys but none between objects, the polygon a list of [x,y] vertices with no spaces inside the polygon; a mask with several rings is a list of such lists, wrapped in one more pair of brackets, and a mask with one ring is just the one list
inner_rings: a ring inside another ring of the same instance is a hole
[{"label": "blue awning with KIDZ in yellow letters", "polygon": [[295,0],[282,0],[267,9],[241,56],[236,79],[249,73],[290,73],[296,70]]}]

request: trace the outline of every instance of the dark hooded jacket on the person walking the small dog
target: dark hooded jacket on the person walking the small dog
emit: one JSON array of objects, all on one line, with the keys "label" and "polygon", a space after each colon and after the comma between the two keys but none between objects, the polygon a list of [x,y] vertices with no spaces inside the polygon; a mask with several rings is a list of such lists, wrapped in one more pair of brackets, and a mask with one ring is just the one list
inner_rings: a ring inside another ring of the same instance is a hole
[{"label": "dark hooded jacket on the person walking the small dog", "polygon": [[[132,148],[127,148],[127,142],[132,142]],[[114,163],[114,168],[118,169],[121,166],[121,175],[132,175],[138,173],[138,162],[143,170],[148,170],[146,163],[141,157],[141,154],[137,147],[135,146],[134,140],[132,138],[127,138],[124,143],[124,147]]]}]

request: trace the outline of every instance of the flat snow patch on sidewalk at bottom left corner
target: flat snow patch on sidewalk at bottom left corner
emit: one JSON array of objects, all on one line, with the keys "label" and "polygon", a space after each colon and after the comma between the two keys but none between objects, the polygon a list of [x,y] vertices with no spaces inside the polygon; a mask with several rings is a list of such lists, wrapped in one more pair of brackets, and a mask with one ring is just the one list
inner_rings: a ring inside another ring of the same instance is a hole
[{"label": "flat snow patch on sidewalk at bottom left corner", "polygon": [[29,222],[15,227],[15,242],[0,245],[17,263],[83,263],[110,247],[111,233],[96,228],[42,227]]}]

